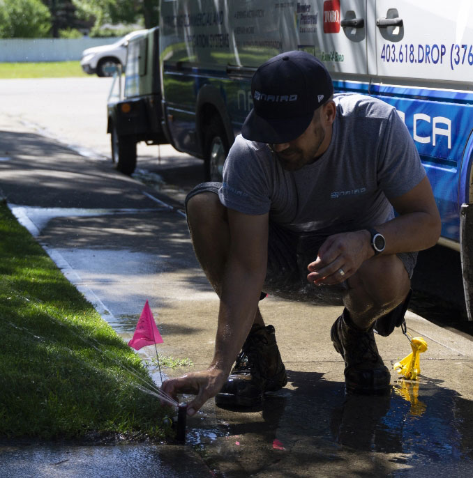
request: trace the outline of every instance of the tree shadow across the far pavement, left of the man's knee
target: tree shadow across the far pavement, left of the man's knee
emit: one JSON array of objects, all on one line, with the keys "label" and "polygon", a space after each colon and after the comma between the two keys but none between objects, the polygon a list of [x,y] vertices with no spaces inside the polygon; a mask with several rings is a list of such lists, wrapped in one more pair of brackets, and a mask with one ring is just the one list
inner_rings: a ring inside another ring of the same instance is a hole
[{"label": "tree shadow across the far pavement, left of the man's knee", "polygon": [[0,138],[0,156],[10,158],[0,162],[1,189],[10,203],[126,208],[131,201],[144,202],[140,185],[111,162],[91,161],[40,134],[0,131]]}]

